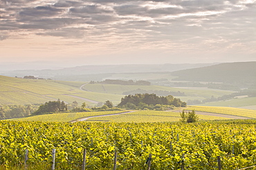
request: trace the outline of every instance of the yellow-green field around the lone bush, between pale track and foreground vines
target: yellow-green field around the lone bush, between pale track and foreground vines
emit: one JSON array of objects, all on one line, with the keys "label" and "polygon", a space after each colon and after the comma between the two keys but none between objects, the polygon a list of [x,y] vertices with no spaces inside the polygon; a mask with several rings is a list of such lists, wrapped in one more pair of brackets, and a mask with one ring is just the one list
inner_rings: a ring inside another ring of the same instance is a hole
[{"label": "yellow-green field around the lone bush, between pale track and foreground vines", "polygon": [[[181,118],[179,112],[172,111],[135,111],[128,114],[116,116],[105,116],[98,118],[89,118],[86,121],[108,121],[115,123],[154,123],[154,122],[177,122]],[[217,116],[199,115],[200,120],[226,120]]]}]

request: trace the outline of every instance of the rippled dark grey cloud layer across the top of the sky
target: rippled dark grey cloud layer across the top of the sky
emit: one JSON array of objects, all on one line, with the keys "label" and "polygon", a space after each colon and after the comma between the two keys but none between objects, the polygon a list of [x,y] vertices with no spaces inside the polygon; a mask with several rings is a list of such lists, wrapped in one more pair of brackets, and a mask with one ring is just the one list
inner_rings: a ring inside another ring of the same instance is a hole
[{"label": "rippled dark grey cloud layer across the top of the sky", "polygon": [[26,31],[80,39],[99,32],[130,36],[139,32],[149,41],[152,37],[226,36],[229,39],[228,29],[232,36],[244,36],[246,30],[253,32],[255,4],[239,0],[2,0],[0,34],[5,31],[10,36],[15,31]]}]

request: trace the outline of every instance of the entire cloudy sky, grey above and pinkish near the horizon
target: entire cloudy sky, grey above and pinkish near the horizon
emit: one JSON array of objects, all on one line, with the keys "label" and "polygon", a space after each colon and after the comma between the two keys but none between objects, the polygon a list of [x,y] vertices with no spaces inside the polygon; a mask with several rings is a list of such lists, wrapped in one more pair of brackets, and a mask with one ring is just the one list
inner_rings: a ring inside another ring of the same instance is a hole
[{"label": "entire cloudy sky, grey above and pinkish near the horizon", "polygon": [[0,62],[256,61],[256,0],[0,0]]}]

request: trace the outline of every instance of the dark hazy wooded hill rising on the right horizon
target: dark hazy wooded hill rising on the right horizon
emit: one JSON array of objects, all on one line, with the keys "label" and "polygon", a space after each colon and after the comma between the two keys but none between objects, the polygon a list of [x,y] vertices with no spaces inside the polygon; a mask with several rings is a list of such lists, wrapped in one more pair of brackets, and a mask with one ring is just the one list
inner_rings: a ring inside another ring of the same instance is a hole
[{"label": "dark hazy wooded hill rising on the right horizon", "polygon": [[232,83],[239,87],[249,87],[256,83],[256,62],[221,63],[171,73],[178,76],[172,81],[205,81]]}]

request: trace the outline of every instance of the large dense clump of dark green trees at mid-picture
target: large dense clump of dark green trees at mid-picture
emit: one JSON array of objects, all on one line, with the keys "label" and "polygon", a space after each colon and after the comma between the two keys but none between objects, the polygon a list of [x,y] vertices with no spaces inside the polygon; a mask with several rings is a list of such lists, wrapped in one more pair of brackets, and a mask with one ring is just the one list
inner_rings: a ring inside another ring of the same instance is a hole
[{"label": "large dense clump of dark green trees at mid-picture", "polygon": [[[156,96],[156,94],[135,94],[122,98],[118,107],[125,107],[129,109],[154,109],[156,105],[158,105],[157,107],[160,105],[185,107],[186,103],[182,102],[179,98],[174,98],[171,95],[159,97]],[[161,106],[159,108],[161,108]]]}]

